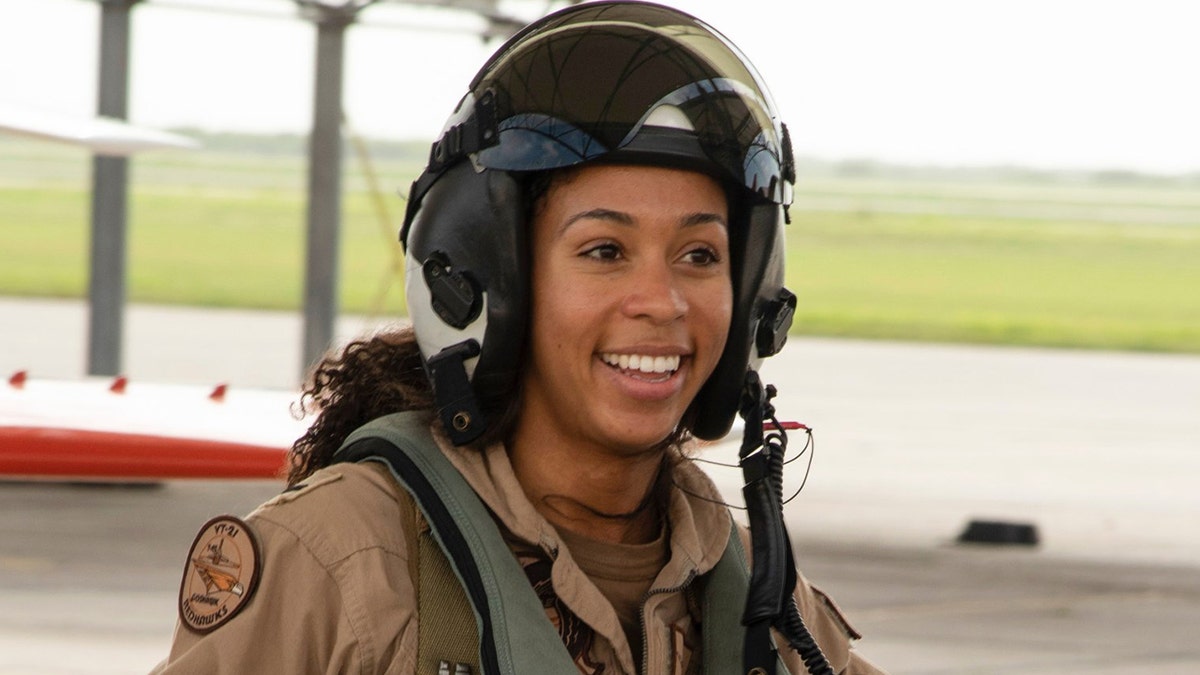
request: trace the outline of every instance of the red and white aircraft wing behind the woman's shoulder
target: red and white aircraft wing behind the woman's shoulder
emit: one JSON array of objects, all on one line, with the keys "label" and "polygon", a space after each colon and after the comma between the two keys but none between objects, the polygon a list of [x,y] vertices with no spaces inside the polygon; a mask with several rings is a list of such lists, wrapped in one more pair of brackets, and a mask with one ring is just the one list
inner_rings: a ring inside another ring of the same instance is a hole
[{"label": "red and white aircraft wing behind the woman's shoulder", "polygon": [[0,382],[0,479],[280,478],[298,393],[13,375]]}]

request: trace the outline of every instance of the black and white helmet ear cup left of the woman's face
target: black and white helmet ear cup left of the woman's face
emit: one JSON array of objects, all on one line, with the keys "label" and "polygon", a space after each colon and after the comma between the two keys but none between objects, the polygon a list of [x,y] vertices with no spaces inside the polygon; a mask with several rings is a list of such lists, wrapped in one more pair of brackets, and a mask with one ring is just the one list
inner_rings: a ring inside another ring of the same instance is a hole
[{"label": "black and white helmet ear cup left of the woman's face", "polygon": [[[462,368],[488,417],[511,395],[524,350],[526,201],[515,174],[460,162],[421,197],[403,241],[409,316],[426,368],[444,350],[478,342]],[[439,407],[449,402],[434,395]]]}]

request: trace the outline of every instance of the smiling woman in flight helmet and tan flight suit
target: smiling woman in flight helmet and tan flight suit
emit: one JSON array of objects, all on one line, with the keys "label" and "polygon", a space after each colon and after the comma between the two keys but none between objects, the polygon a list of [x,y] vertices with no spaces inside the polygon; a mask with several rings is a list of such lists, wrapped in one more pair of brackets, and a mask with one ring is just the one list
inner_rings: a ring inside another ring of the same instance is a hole
[{"label": "smiling woman in flight helmet and tan flight suit", "polygon": [[[684,454],[786,335],[792,180],[754,70],[692,17],[598,2],[509,41],[410,193],[413,329],[317,368],[288,490],[202,528],[160,670],[878,673],[790,557],[748,583]],[[805,663],[755,609],[773,584]]]}]

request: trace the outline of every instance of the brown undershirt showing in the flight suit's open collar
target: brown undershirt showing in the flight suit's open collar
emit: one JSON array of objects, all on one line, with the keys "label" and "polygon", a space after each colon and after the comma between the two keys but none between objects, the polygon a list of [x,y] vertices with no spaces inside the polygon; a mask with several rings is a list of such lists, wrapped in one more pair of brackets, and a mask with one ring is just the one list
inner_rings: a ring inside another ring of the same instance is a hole
[{"label": "brown undershirt showing in the flight suit's open collar", "polygon": [[598,542],[565,530],[559,534],[571,557],[617,610],[625,638],[642,668],[642,602],[667,563],[666,530],[648,544]]}]

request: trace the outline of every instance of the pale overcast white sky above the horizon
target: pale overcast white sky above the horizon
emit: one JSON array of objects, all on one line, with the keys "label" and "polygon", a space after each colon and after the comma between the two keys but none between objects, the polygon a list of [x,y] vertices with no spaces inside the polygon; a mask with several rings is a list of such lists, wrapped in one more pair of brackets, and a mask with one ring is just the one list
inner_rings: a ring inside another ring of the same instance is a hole
[{"label": "pale overcast white sky above the horizon", "polygon": [[[134,8],[131,119],[306,131],[312,25],[185,8],[220,2],[230,0]],[[234,4],[294,14],[288,0]],[[1200,171],[1200,0],[673,5],[758,66],[800,155]],[[511,11],[535,16],[544,6]],[[0,0],[0,102],[92,114],[98,16],[96,0]],[[434,136],[498,46],[472,35],[479,25],[456,12],[366,11],[348,34],[350,124],[368,136]]]}]

